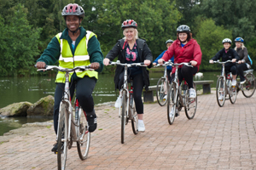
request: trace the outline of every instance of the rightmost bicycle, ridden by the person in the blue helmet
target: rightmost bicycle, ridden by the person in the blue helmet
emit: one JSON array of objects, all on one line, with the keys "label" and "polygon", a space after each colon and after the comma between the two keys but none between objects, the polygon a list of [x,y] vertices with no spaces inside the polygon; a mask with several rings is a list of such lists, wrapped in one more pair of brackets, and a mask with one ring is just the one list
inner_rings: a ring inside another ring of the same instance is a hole
[{"label": "rightmost bicycle, ridden by the person in the blue helmet", "polygon": [[254,92],[255,92],[255,77],[253,75],[253,69],[249,69],[247,71],[243,71],[244,72],[244,77],[246,82],[241,84],[240,82],[237,82],[236,87],[237,87],[237,92],[239,90],[241,90],[242,94],[246,97],[246,98],[250,98],[253,96]]}]

